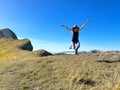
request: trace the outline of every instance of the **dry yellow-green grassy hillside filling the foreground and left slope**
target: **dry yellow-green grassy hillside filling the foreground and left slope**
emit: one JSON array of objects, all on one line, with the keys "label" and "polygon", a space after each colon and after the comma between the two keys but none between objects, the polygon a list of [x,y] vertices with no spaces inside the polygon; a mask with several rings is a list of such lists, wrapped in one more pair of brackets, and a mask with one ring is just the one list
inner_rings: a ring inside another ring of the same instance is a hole
[{"label": "dry yellow-green grassy hillside filling the foreground and left slope", "polygon": [[119,53],[38,57],[2,44],[0,90],[120,90]]}]

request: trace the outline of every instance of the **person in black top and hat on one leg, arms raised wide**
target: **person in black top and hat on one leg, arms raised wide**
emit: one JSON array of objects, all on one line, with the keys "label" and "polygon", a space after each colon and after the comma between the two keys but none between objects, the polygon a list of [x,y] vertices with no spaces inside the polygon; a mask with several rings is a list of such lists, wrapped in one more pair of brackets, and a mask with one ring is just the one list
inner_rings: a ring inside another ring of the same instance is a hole
[{"label": "person in black top and hat on one leg, arms raised wide", "polygon": [[62,27],[64,27],[65,29],[71,31],[73,33],[72,35],[72,45],[70,46],[70,49],[74,49],[75,50],[75,54],[77,54],[77,51],[80,47],[80,42],[79,42],[79,32],[87,25],[87,23],[89,22],[89,20],[86,20],[86,22],[81,26],[78,27],[77,25],[74,25],[73,28],[68,28],[65,25],[61,25]]}]

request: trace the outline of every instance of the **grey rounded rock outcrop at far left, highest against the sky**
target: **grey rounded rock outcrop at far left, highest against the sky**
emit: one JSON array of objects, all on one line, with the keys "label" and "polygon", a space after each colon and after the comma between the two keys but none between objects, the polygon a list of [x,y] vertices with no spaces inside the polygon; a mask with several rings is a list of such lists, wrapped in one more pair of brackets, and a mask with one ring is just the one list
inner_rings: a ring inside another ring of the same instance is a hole
[{"label": "grey rounded rock outcrop at far left, highest against the sky", "polygon": [[11,38],[11,39],[18,39],[16,34],[11,31],[9,28],[0,29],[0,38]]}]

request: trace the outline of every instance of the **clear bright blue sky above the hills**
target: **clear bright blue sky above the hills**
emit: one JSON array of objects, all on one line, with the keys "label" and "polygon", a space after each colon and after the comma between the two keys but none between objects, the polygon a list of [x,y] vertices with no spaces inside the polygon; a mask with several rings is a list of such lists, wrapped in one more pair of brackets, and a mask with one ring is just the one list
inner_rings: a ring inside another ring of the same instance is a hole
[{"label": "clear bright blue sky above the hills", "polygon": [[67,51],[72,28],[90,22],[80,32],[82,50],[120,50],[119,0],[0,0],[0,28],[29,38],[34,50]]}]

